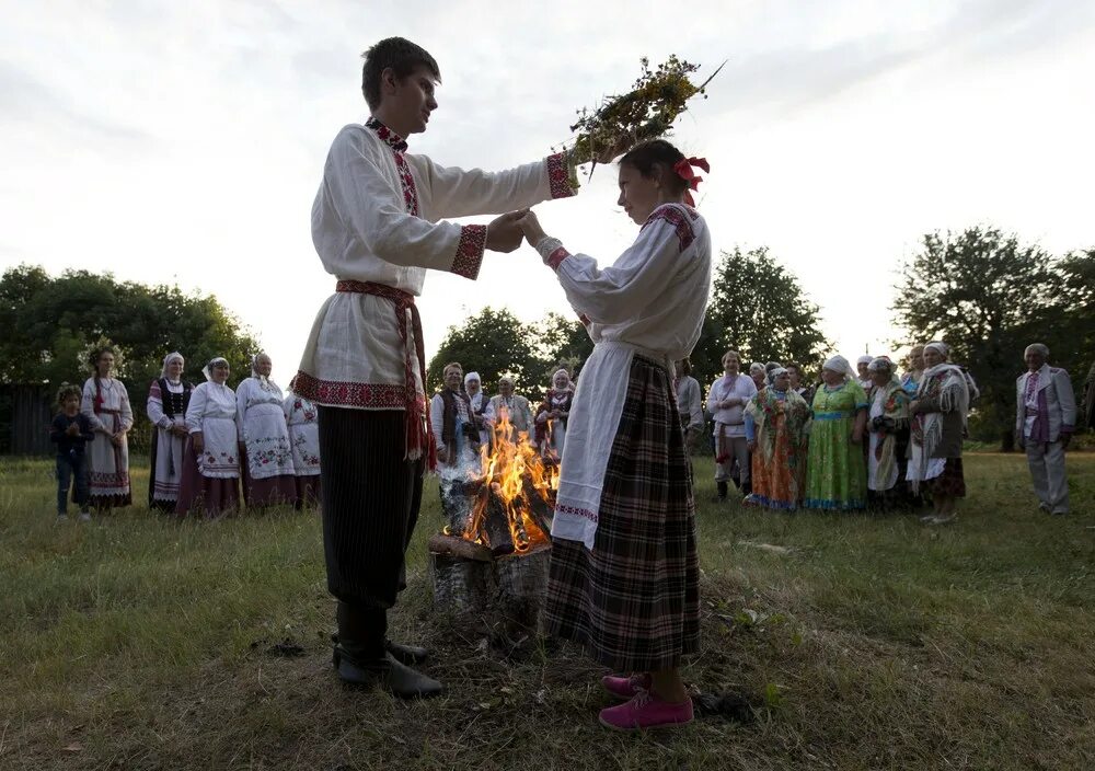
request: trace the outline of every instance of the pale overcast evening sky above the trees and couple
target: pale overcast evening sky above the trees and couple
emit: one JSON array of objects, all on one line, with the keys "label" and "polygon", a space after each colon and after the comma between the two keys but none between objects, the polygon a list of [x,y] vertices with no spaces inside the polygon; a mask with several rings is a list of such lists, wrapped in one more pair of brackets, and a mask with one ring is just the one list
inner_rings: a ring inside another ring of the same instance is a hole
[{"label": "pale overcast evening sky above the trees and couple", "polygon": [[[367,115],[360,53],[390,35],[441,67],[412,151],[485,169],[550,152],[643,56],[676,53],[701,74],[729,59],[676,130],[712,164],[700,210],[716,249],[770,246],[849,356],[900,335],[895,271],[924,232],[992,223],[1053,253],[1095,246],[1095,3],[546,8],[0,0],[0,266],[214,294],[287,386],[334,283],[310,234],[323,160]],[[614,202],[604,169],[539,212],[608,264],[635,235]],[[427,355],[486,304],[567,310],[528,248],[488,253],[477,283],[431,273],[419,304]]]}]

